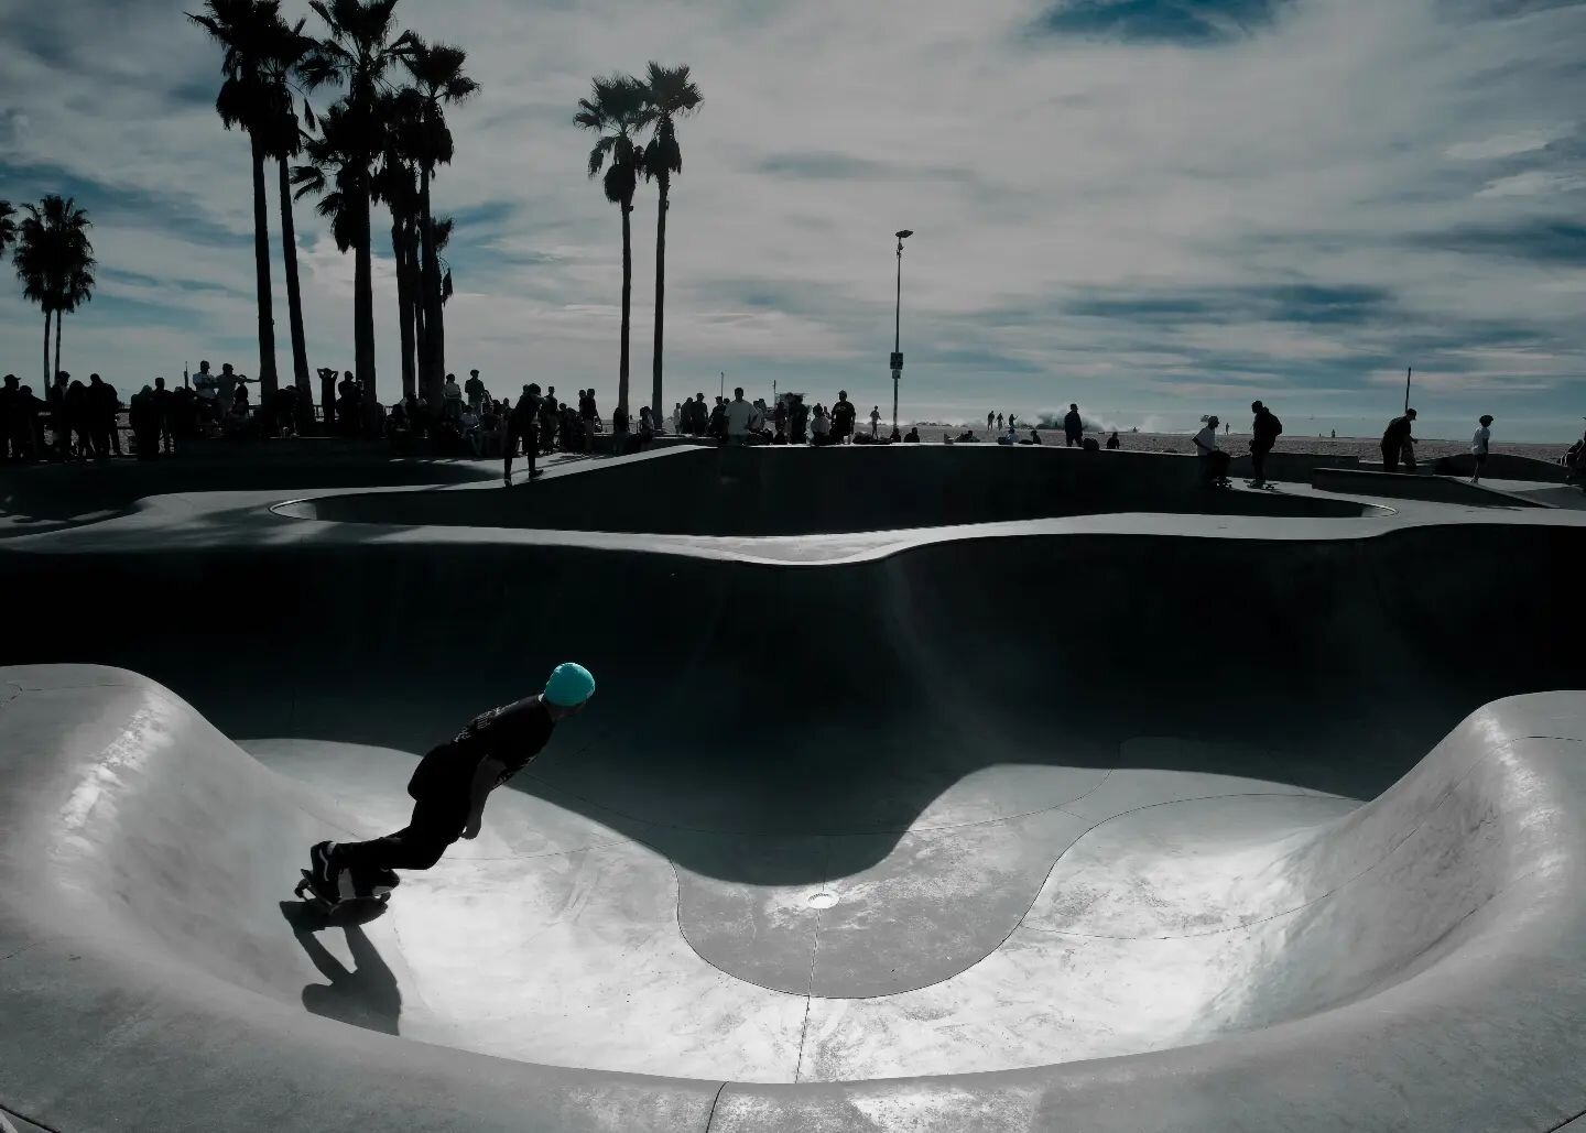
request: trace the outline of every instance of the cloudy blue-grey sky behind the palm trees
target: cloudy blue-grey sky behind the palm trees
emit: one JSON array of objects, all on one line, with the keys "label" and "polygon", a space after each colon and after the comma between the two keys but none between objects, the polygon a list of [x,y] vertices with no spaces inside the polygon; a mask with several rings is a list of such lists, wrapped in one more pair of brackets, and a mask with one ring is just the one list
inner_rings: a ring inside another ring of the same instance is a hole
[{"label": "cloudy blue-grey sky behind the palm trees", "polygon": [[[192,3],[186,5],[193,8]],[[297,11],[301,8],[301,11]],[[308,5],[284,0],[295,19]],[[170,0],[0,0],[0,198],[71,195],[94,301],[63,366],[128,391],[257,374],[247,141]],[[839,388],[904,420],[1078,402],[1142,429],[1426,422],[1569,441],[1586,414],[1586,0],[401,0],[469,52],[439,214],[447,368],[615,401],[622,217],[585,177],[590,78],[687,62],[666,406]],[[312,97],[322,108],[330,95]],[[271,177],[271,239],[279,216]],[[633,212],[633,404],[650,396],[653,187]],[[352,258],[295,206],[311,366],[352,366]],[[377,390],[400,395],[377,212]],[[387,235],[382,239],[382,233]],[[290,374],[279,249],[278,366]],[[0,277],[0,369],[43,317]],[[1426,431],[1423,428],[1423,431]],[[1435,431],[1434,431],[1435,433]]]}]

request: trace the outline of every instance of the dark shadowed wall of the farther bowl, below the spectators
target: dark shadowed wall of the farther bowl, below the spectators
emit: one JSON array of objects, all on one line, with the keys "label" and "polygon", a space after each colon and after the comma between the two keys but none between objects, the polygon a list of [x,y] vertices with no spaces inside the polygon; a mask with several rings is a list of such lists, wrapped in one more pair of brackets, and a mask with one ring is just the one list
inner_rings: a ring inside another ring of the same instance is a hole
[{"label": "dark shadowed wall of the farther bowl, below the spectators", "polygon": [[1085,515],[1361,517],[1329,496],[1201,488],[1191,456],[998,445],[693,448],[546,477],[523,491],[404,491],[297,501],[341,523],[799,536]]}]

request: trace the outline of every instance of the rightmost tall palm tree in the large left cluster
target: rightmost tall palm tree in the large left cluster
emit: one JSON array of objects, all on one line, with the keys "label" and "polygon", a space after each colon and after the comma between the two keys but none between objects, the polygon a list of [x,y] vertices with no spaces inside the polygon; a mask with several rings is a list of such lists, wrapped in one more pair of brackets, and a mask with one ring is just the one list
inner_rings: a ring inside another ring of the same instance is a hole
[{"label": "rightmost tall palm tree in the large left cluster", "polygon": [[441,312],[441,266],[435,249],[435,216],[430,209],[430,182],[438,165],[449,165],[455,146],[446,125],[446,108],[479,93],[479,84],[463,74],[468,52],[447,43],[430,46],[412,36],[403,63],[417,95],[417,130],[412,157],[419,166],[419,239],[423,254],[423,339],[419,355],[423,390],[431,406],[441,404],[446,380],[446,319]]}]

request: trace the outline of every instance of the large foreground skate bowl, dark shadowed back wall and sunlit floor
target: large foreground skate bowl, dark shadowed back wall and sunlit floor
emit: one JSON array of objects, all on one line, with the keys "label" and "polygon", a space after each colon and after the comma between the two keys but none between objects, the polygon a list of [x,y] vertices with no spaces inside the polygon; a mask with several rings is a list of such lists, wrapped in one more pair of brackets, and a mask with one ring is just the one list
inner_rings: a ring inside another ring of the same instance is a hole
[{"label": "large foreground skate bowl, dark shadowed back wall and sunlit floor", "polygon": [[[1586,1109],[1569,515],[774,566],[259,510],[0,551],[62,615],[0,654],[0,1100],[51,1128]],[[566,658],[596,702],[477,841],[366,924],[290,900]]]}]

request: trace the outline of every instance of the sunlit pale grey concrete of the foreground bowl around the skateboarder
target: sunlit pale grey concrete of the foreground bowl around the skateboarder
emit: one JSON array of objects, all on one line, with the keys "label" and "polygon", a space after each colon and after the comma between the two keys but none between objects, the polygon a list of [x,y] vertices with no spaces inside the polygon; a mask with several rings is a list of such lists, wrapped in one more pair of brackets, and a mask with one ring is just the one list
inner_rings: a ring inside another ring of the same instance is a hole
[{"label": "sunlit pale grey concrete of the foreground bowl around the skateboarder", "polygon": [[[290,900],[306,845],[400,822],[411,756],[244,751],[117,669],[0,689],[0,1098],[48,1128],[1586,1109],[1586,694],[1489,704],[1369,802],[1148,726],[1110,767],[988,764],[890,832],[636,822],[552,765],[385,916],[325,925]],[[826,879],[787,884],[817,835]]]}]

